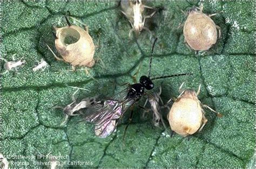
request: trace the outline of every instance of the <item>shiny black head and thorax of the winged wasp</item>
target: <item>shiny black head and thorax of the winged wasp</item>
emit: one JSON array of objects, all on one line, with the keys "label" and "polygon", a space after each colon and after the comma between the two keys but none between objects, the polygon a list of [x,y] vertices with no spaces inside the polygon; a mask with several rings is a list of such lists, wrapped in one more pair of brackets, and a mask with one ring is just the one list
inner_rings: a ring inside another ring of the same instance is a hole
[{"label": "shiny black head and thorax of the winged wasp", "polygon": [[144,89],[151,90],[153,88],[154,84],[152,80],[149,77],[142,76],[139,79],[139,83],[130,86],[126,99],[135,98],[136,100],[139,100],[144,94]]}]

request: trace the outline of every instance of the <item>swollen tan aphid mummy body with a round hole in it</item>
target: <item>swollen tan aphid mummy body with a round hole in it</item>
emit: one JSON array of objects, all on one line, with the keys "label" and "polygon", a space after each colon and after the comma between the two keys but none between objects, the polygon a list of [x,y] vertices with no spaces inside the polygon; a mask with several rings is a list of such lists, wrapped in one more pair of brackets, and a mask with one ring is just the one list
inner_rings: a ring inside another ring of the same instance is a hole
[{"label": "swollen tan aphid mummy body with a round hole in it", "polygon": [[75,25],[55,29],[55,46],[65,62],[72,66],[92,67],[95,64],[95,45],[87,31]]}]

